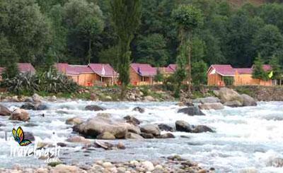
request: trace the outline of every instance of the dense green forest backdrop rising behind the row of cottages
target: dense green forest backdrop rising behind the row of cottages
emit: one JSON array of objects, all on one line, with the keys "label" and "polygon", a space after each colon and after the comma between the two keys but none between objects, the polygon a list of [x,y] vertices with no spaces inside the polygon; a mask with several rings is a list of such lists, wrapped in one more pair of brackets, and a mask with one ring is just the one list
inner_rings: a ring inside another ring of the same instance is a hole
[{"label": "dense green forest backdrop rising behind the row of cottages", "polygon": [[[175,63],[180,37],[172,12],[180,4],[192,4],[204,18],[192,34],[192,66],[202,61],[250,67],[258,56],[264,63],[276,59],[283,64],[279,1],[235,8],[220,0],[143,0],[131,61]],[[110,0],[0,0],[0,64],[91,61],[116,66],[118,39],[110,11]]]}]

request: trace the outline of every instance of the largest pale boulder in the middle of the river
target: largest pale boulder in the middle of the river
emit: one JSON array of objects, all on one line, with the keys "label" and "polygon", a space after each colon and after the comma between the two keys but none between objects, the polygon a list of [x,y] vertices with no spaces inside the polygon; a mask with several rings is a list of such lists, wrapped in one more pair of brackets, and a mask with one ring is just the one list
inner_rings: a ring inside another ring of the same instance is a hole
[{"label": "largest pale boulder in the middle of the river", "polygon": [[112,121],[111,119],[104,117],[94,117],[88,119],[83,124],[75,126],[73,129],[81,133],[83,136],[96,138],[101,133],[108,131],[112,133],[115,138],[125,138],[129,125],[122,121]]}]

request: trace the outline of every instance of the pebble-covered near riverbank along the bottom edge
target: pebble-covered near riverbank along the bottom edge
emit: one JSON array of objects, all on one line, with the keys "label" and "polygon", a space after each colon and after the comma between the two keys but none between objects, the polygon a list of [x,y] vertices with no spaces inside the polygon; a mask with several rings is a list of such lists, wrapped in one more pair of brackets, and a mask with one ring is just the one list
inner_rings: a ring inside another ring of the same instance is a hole
[{"label": "pebble-covered near riverbank along the bottom edge", "polygon": [[[88,161],[90,162],[90,160]],[[132,160],[129,162],[109,162],[105,160],[96,160],[88,165],[64,165],[58,164],[40,168],[24,168],[20,165],[14,165],[12,169],[0,169],[2,173],[137,173],[137,172],[154,172],[154,173],[170,173],[170,172],[192,172],[192,173],[208,173],[214,172],[214,168],[209,170],[202,169],[197,163],[185,160],[179,155],[163,158],[156,162],[148,160]]]}]

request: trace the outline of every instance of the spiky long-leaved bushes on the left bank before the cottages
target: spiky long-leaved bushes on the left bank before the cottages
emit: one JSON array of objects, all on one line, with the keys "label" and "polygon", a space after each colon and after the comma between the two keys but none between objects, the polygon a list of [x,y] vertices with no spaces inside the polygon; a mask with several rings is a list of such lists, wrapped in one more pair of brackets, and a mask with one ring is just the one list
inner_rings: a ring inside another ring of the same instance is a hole
[{"label": "spiky long-leaved bushes on the left bank before the cottages", "polygon": [[1,87],[7,88],[10,93],[74,93],[79,87],[73,80],[57,71],[52,70],[32,73],[19,73],[14,78],[1,81]]}]

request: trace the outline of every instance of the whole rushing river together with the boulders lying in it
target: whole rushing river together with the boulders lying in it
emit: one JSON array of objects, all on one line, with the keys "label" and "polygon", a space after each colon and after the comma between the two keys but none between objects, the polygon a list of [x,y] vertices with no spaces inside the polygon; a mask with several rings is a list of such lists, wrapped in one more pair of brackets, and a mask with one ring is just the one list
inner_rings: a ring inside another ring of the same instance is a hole
[{"label": "whole rushing river together with the boulders lying in it", "polygon": [[[149,171],[144,162],[152,163],[151,172],[161,167],[161,172],[282,170],[282,102],[227,107],[215,98],[195,100],[221,104],[215,110],[177,102],[31,101],[1,102],[7,108],[1,108],[2,114],[8,116],[0,116],[0,167],[7,172],[35,172],[38,167],[42,172],[91,172],[92,167],[108,169],[107,165],[117,171]],[[22,109],[13,112],[18,108]],[[58,162],[52,164],[61,166],[47,166],[46,157],[11,157],[16,143],[11,129],[18,126],[33,141],[30,148],[35,141],[38,149],[59,145]],[[180,158],[172,159],[174,155]]]}]

